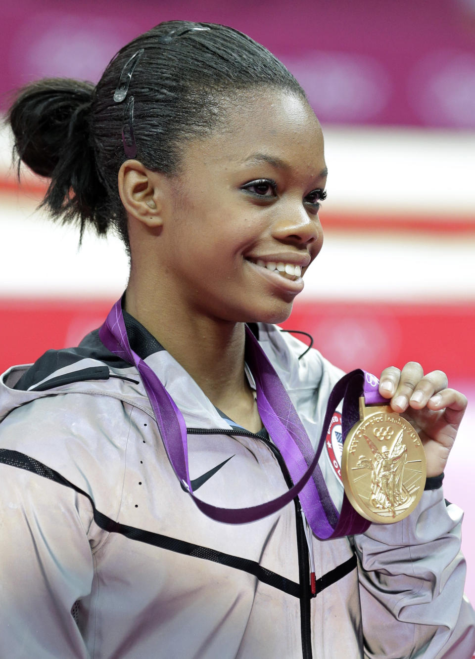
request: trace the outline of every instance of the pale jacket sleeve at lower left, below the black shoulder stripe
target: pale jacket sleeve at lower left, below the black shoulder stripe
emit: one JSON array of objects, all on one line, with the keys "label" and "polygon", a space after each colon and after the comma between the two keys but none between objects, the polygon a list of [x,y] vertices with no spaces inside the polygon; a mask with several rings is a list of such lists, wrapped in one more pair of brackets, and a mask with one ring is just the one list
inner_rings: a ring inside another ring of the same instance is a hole
[{"label": "pale jacket sleeve at lower left, below the black shoulder stripe", "polygon": [[0,482],[0,656],[86,659],[71,610],[92,584],[89,501],[13,465]]}]

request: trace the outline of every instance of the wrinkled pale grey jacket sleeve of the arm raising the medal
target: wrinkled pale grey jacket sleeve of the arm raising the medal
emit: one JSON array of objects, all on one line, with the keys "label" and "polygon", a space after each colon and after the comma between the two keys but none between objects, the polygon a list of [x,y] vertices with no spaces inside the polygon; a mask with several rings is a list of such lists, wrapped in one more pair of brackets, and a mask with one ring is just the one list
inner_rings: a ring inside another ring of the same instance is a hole
[{"label": "wrinkled pale grey jacket sleeve of the arm raising the medal", "polygon": [[442,489],[392,525],[354,536],[365,658],[471,659],[475,614],[464,596],[462,511]]}]

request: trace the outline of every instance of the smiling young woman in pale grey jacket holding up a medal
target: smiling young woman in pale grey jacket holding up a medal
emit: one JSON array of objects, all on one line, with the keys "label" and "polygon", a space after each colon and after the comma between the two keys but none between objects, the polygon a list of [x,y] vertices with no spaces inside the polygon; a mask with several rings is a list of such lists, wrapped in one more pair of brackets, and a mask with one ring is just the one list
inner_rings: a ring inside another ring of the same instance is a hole
[{"label": "smiling young woman in pale grey jacket holding up a medal", "polygon": [[279,428],[315,451],[342,376],[274,325],[319,253],[326,196],[292,75],[232,28],[168,22],[95,88],[29,85],[9,121],[51,177],[53,217],[118,231],[131,273],[100,331],[3,376],[0,656],[471,656],[461,513],[440,487],[466,399],[443,373],[381,376],[428,463],[404,521],[336,537],[323,453],[330,531],[302,515],[320,503],[286,494]]}]

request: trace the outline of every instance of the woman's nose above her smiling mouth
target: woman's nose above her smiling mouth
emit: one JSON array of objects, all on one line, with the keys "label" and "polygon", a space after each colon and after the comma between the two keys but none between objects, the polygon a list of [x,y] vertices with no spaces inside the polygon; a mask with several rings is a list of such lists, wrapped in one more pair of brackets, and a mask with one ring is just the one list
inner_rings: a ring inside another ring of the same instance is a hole
[{"label": "woman's nose above her smiling mouth", "polygon": [[[311,243],[323,242],[323,231],[319,216],[309,214],[301,204],[288,204],[281,209],[282,214],[276,219],[272,235],[282,243],[307,246]],[[316,245],[313,245],[315,247]]]}]

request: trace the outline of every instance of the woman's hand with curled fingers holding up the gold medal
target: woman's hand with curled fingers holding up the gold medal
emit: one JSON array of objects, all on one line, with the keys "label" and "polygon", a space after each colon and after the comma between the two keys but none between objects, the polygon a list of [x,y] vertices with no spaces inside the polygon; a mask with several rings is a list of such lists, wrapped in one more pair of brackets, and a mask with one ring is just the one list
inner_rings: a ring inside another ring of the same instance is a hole
[{"label": "woman's hand with curled fingers holding up the gold medal", "polygon": [[439,476],[449,458],[467,399],[455,389],[447,389],[442,371],[424,375],[422,366],[408,362],[402,370],[385,368],[379,381],[379,393],[391,399],[391,407],[417,430],[427,459],[427,475]]}]

